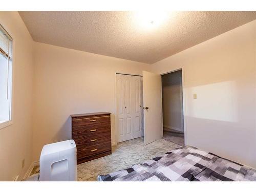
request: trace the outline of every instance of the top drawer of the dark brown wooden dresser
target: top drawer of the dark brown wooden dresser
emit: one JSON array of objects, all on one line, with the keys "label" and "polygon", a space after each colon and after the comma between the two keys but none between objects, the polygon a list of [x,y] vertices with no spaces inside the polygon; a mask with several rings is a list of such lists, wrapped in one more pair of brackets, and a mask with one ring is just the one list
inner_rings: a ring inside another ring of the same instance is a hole
[{"label": "top drawer of the dark brown wooden dresser", "polygon": [[72,119],[74,126],[88,126],[97,125],[102,123],[110,123],[110,116],[98,116],[98,117],[76,117]]}]

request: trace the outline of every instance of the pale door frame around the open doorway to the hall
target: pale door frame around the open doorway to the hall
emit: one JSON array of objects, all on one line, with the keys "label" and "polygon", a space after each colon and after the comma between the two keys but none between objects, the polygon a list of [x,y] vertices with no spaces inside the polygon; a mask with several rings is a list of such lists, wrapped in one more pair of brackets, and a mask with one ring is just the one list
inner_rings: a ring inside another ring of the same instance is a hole
[{"label": "pale door frame around the open doorway to the hall", "polygon": [[[186,145],[187,144],[187,125],[186,125],[186,94],[185,94],[185,77],[184,77],[184,66],[182,67],[179,67],[179,68],[175,68],[173,69],[172,71],[168,71],[168,72],[165,72],[165,73],[161,73],[160,75],[165,75],[165,74],[168,74],[168,73],[173,73],[175,71],[179,71],[181,70],[181,75],[182,75],[182,105],[183,105],[183,126],[184,126],[184,144]],[[163,99],[163,96],[162,98]],[[163,118],[163,109],[162,109],[162,118]],[[162,119],[163,121],[163,119]]]}]

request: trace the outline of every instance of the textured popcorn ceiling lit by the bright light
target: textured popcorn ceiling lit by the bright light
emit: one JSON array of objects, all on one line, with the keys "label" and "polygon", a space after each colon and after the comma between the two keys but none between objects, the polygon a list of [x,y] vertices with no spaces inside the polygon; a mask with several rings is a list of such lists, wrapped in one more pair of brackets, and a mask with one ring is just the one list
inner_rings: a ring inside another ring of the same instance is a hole
[{"label": "textured popcorn ceiling lit by the bright light", "polygon": [[154,63],[256,19],[256,11],[169,12],[147,28],[136,12],[20,11],[32,38],[60,47]]}]

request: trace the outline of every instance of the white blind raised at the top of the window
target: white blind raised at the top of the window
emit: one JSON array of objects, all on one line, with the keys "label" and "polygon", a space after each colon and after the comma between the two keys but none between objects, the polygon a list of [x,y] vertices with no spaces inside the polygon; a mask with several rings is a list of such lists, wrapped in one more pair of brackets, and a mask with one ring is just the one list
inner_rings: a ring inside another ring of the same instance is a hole
[{"label": "white blind raised at the top of the window", "polygon": [[12,38],[0,25],[0,54],[12,58]]}]

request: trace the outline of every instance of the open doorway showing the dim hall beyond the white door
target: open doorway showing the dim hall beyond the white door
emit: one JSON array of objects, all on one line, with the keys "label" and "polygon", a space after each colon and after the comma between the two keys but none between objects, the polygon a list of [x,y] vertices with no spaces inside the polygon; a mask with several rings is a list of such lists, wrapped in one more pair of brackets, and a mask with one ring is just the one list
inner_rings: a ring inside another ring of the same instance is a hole
[{"label": "open doorway showing the dim hall beyond the white door", "polygon": [[182,70],[162,75],[163,138],[184,145]]}]

